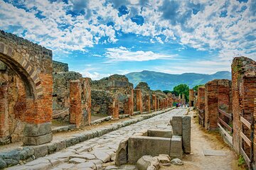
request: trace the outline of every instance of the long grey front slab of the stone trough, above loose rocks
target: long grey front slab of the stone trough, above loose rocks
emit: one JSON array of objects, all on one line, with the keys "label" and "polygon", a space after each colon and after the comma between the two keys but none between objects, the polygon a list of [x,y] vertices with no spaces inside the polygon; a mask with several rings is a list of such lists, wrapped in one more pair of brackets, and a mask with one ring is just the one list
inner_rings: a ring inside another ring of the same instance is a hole
[{"label": "long grey front slab of the stone trough, above loose rocks", "polygon": [[[170,138],[134,136],[128,140],[128,162],[135,164],[144,155],[169,154]],[[159,147],[161,146],[161,147]]]}]

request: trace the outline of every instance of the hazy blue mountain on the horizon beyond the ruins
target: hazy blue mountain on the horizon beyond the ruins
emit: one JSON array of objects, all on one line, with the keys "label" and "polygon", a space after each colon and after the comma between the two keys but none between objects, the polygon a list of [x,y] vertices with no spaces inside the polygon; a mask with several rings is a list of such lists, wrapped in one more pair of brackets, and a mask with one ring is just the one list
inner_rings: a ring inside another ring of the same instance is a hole
[{"label": "hazy blue mountain on the horizon beyond the ruins", "polygon": [[215,74],[166,74],[162,72],[131,72],[125,75],[134,87],[144,81],[149,84],[152,90],[173,90],[178,84],[188,84],[190,88],[198,84],[206,84],[213,79],[231,79],[231,73],[227,71],[216,72]]}]

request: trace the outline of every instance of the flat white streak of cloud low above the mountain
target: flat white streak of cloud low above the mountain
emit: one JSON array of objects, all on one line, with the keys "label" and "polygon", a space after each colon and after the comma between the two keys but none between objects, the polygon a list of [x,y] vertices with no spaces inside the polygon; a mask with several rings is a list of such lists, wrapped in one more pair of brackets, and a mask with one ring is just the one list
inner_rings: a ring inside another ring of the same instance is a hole
[{"label": "flat white streak of cloud low above the mountain", "polygon": [[177,55],[164,55],[151,51],[130,51],[126,47],[107,48],[105,57],[112,61],[148,61],[148,60],[170,60]]}]

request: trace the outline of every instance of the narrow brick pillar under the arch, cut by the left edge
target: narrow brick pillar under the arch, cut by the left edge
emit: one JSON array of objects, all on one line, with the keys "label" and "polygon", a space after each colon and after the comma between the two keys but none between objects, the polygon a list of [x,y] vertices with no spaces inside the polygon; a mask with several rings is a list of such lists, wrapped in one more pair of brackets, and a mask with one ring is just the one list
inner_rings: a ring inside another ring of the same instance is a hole
[{"label": "narrow brick pillar under the arch, cut by the left edge", "polygon": [[8,85],[0,85],[0,143],[8,143],[7,140],[9,135],[9,113],[8,113]]}]

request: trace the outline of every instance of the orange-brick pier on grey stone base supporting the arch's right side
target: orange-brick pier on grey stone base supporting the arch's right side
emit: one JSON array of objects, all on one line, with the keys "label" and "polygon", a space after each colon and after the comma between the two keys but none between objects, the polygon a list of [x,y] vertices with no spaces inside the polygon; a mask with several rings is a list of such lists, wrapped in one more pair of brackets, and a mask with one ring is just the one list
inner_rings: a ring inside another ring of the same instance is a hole
[{"label": "orange-brick pier on grey stone base supporting the arch's right side", "polygon": [[[51,64],[48,64],[48,70]],[[42,89],[36,98],[26,97],[25,127],[23,130],[24,145],[41,145],[53,140],[51,120],[53,115],[53,76],[52,73],[38,74],[41,80],[36,88]]]}]

